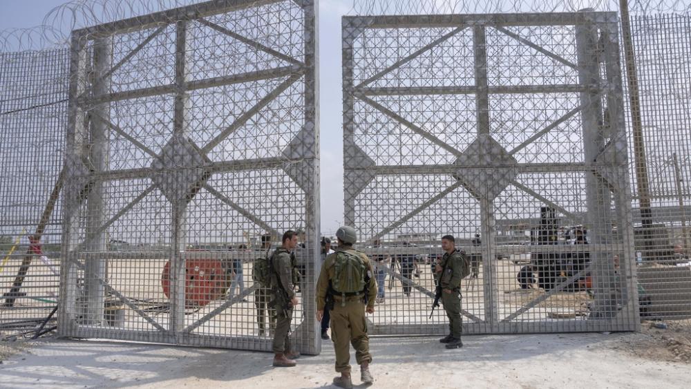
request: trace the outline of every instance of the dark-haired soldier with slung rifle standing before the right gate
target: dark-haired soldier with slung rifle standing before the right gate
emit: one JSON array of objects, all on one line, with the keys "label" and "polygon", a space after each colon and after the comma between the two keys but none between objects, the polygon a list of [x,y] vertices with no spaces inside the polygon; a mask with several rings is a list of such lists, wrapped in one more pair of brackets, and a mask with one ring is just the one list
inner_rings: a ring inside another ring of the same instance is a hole
[{"label": "dark-haired soldier with slung rifle standing before the right gate", "polygon": [[463,254],[456,250],[455,240],[451,235],[442,237],[444,256],[437,264],[435,271],[440,285],[442,285],[442,303],[448,316],[449,334],[440,343],[446,343],[446,348],[463,347],[461,341],[461,280],[468,273],[468,262]]}]

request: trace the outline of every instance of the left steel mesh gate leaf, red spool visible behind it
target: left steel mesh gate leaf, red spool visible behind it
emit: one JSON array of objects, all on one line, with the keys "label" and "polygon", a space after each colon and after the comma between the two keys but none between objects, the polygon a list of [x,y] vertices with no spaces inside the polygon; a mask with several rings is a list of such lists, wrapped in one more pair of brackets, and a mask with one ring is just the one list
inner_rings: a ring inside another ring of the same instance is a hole
[{"label": "left steel mesh gate leaf, red spool visible behind it", "polygon": [[216,0],[73,32],[62,335],[269,350],[252,263],[296,229],[293,334],[319,352],[315,13]]}]

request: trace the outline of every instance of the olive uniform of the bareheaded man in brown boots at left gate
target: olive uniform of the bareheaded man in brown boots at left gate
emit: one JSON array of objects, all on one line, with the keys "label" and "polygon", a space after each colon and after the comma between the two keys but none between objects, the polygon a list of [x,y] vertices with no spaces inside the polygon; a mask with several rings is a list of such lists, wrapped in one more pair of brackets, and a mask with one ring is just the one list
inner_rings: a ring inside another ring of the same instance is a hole
[{"label": "olive uniform of the bareheaded man in brown boots at left gate", "polygon": [[275,353],[286,353],[292,350],[290,346],[290,321],[293,307],[290,301],[295,297],[293,283],[293,265],[291,253],[279,247],[272,256],[273,271],[271,274],[272,297],[270,305],[276,310],[276,332],[272,350]]}]

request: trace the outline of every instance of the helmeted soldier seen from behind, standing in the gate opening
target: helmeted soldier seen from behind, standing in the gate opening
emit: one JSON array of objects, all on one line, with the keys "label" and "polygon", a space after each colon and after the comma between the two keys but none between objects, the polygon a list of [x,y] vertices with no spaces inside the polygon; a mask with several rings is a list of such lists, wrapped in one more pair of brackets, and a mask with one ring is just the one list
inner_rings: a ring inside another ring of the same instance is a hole
[{"label": "helmeted soldier seen from behind, standing in the gate opening", "polygon": [[370,338],[367,335],[365,312],[375,312],[377,282],[372,277],[369,258],[352,248],[357,234],[352,227],[341,227],[336,232],[338,248],[324,260],[316,284],[316,320],[323,319],[327,294],[332,301],[331,339],[336,351],[336,371],[341,377],[334,378],[334,385],[352,388],[350,378],[350,343],[355,348],[355,358],[360,365],[360,379],[370,384]]}]

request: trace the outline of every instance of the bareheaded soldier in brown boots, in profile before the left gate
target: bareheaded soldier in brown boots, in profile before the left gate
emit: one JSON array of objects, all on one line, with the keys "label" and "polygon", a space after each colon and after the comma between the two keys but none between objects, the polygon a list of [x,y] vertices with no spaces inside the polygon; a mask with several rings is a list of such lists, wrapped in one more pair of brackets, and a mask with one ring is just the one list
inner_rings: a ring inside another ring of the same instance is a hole
[{"label": "bareheaded soldier in brown boots, in profile before the left gate", "polygon": [[274,366],[291,368],[296,365],[294,359],[300,356],[293,352],[290,345],[290,321],[293,317],[293,307],[298,305],[293,283],[293,265],[291,251],[298,244],[295,231],[285,231],[283,244],[278,247],[271,257],[271,285],[273,301],[270,303],[276,310],[276,332],[274,333]]}]

